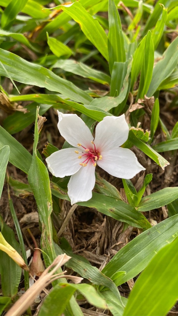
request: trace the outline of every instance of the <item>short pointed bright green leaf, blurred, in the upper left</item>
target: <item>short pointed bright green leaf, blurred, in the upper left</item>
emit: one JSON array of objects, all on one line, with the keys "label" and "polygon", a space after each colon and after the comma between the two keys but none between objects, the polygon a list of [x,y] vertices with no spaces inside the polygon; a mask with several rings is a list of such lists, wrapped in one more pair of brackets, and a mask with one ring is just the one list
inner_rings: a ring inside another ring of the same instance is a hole
[{"label": "short pointed bright green leaf, blurred, in the upper left", "polygon": [[49,37],[48,33],[47,33],[47,43],[50,50],[58,58],[61,56],[66,56],[66,58],[69,58],[73,54],[72,50],[68,46],[64,45],[62,42],[60,42],[56,38]]}]

